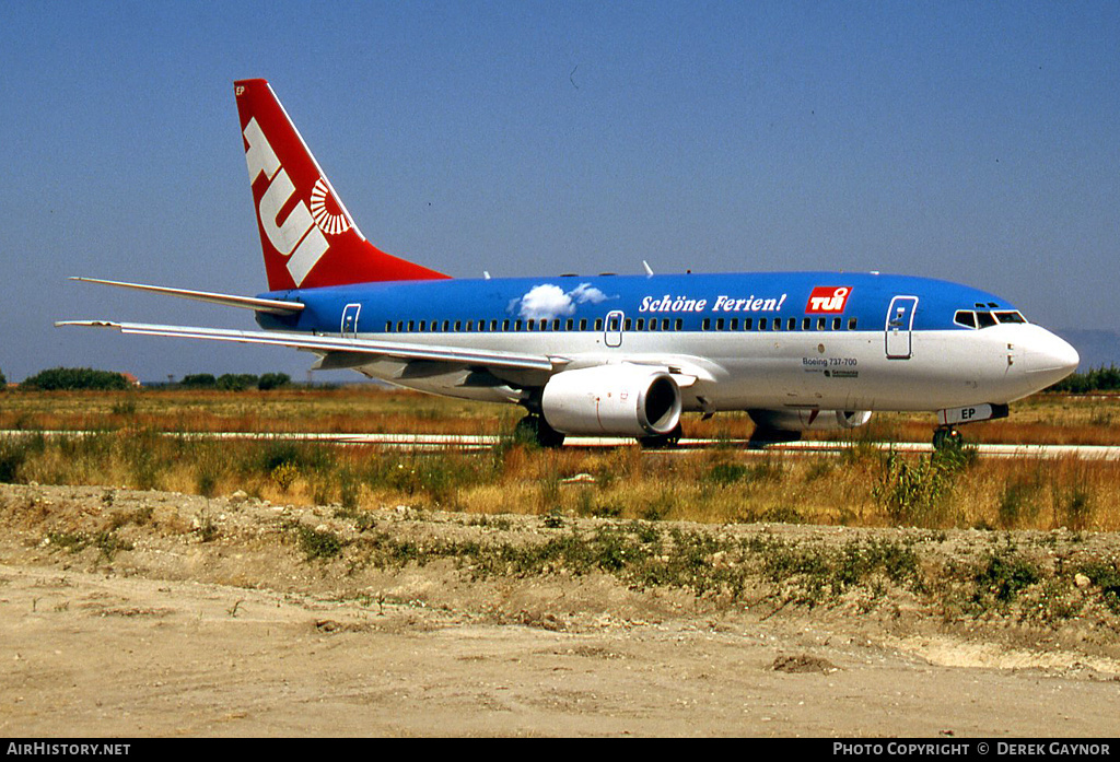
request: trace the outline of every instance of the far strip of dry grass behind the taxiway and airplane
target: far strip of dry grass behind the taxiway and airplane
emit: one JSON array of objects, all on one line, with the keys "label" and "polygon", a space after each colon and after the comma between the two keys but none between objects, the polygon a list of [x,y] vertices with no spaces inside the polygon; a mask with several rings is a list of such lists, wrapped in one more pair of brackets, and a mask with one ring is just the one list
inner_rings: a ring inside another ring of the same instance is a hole
[{"label": "far strip of dry grass behind the taxiway and airplane", "polygon": [[[501,434],[522,416],[508,405],[472,403],[373,385],[272,392],[9,392],[0,393],[0,430],[119,430],[165,432],[327,432]],[[709,421],[689,415],[688,436],[745,439],[754,431],[746,413]],[[878,413],[859,430],[812,433],[841,441],[927,442],[933,416]],[[1016,403],[1002,421],[971,424],[968,440],[1021,444],[1116,444],[1120,397],[1044,394]]]}]

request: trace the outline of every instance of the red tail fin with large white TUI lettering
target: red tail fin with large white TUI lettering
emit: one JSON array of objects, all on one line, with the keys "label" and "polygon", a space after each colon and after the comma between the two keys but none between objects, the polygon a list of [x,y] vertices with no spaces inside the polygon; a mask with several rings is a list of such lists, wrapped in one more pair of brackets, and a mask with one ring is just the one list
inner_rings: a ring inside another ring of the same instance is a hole
[{"label": "red tail fin with large white TUI lettering", "polygon": [[269,83],[233,84],[269,290],[447,277],[366,241]]}]

